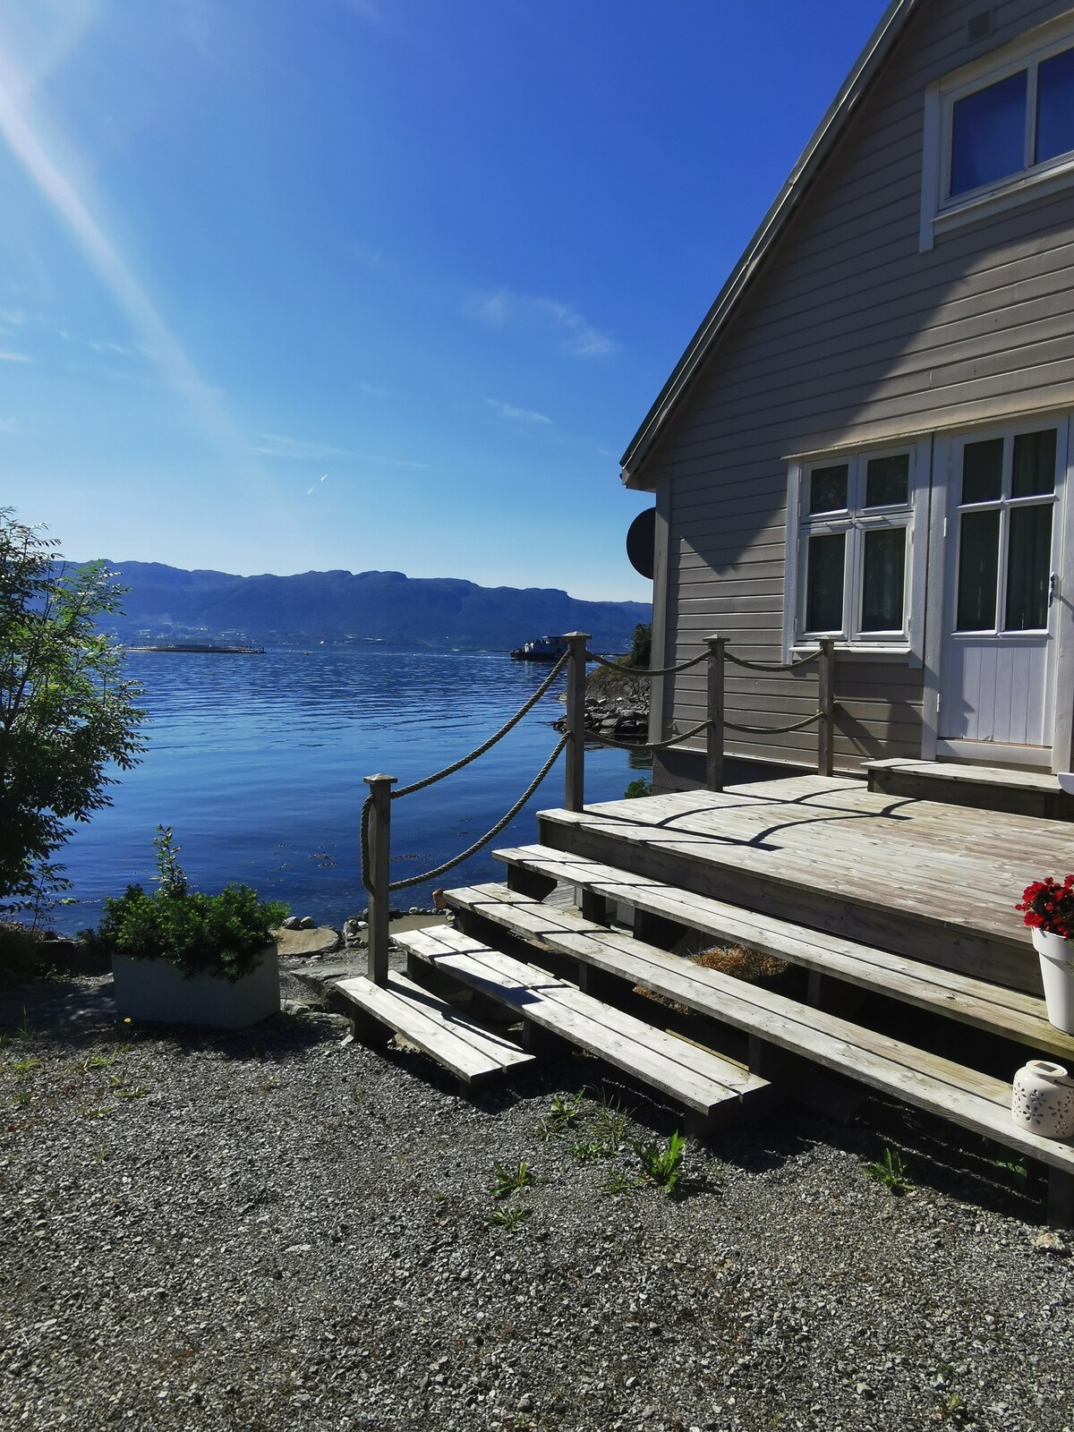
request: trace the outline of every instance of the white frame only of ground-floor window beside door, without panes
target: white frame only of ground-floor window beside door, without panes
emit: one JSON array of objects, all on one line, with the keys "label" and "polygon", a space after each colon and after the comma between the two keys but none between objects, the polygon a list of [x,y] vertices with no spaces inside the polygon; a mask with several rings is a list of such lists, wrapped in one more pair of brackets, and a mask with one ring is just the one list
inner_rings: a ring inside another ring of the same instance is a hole
[{"label": "white frame only of ground-floor window beside door, without panes", "polygon": [[[909,457],[908,501],[891,507],[865,508],[865,474],[869,460]],[[783,659],[815,652],[818,640],[835,639],[838,650],[921,660],[925,610],[925,558],[928,536],[928,438],[888,442],[884,447],[836,450],[796,458],[788,474],[786,599],[783,611]],[[809,478],[815,468],[848,465],[848,505],[838,513],[811,514]],[[906,569],[904,579],[904,626],[899,632],[862,632],[861,604],[865,567],[865,534],[882,527],[905,527]],[[811,534],[846,533],[843,569],[843,620],[839,632],[806,632],[806,561]]]}]

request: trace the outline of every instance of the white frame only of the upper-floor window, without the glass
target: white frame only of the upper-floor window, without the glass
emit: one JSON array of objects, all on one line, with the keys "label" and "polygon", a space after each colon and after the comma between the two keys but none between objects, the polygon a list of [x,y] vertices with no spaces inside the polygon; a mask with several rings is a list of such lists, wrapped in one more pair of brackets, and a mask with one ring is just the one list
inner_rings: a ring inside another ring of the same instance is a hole
[{"label": "white frame only of the upper-floor window, without the glass", "polygon": [[[1074,13],[1038,26],[1012,44],[935,80],[925,92],[925,142],[921,183],[919,246],[931,249],[937,235],[1074,186],[1074,150],[1034,165],[1037,70],[1042,60],[1074,47]],[[954,110],[959,99],[1028,70],[1025,96],[1025,165],[1014,175],[948,198]]]}]

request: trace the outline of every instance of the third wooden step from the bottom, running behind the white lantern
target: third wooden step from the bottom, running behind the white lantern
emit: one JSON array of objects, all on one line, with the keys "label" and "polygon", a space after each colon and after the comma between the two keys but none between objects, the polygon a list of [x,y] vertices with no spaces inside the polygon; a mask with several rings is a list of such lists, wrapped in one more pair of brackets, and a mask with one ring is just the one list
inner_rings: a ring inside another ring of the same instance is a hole
[{"label": "third wooden step from the bottom, running behind the white lantern", "polygon": [[[786,1050],[879,1090],[906,1104],[1030,1154],[1064,1176],[1074,1173],[1074,1141],[1044,1138],[1011,1118],[1011,1085],[937,1054],[914,1048],[760,990],[743,979],[705,969],[607,929],[569,911],[553,909],[504,885],[478,885],[445,895],[458,911],[491,919],[547,951],[591,964],[629,985],[644,985],[763,1045]],[[463,937],[465,938],[465,937]]]}]

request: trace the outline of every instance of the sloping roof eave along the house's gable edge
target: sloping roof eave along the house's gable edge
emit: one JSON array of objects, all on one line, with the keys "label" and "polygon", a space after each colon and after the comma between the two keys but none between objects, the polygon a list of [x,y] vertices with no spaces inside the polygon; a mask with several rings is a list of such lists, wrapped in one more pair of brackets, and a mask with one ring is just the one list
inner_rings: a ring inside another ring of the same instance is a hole
[{"label": "sloping roof eave along the house's gable edge", "polygon": [[667,417],[682,398],[690,379],[697,372],[713,342],[725,328],[739,298],[748,288],[760,262],[768,256],[769,249],[779,238],[790,213],[809,180],[823,163],[829,150],[842,133],[843,125],[849,119],[859,99],[868,89],[888,52],[898,39],[902,27],[922,0],[891,0],[891,4],[881,17],[879,24],[872,32],[865,49],[855,63],[842,89],[828,106],[823,119],[816,126],[809,143],[802,150],[798,163],[790,170],[783,188],[776,195],[770,209],[760,221],[760,226],[748,243],[742,258],[732,269],[730,278],[723,285],[705,316],[697,332],[690,339],[686,352],[672,372],[672,377],[660,390],[660,394],[649,410],[644,422],[630,440],[630,445],[620,458],[621,480],[626,487],[650,490],[650,484],[637,480],[637,465],[644,460],[649,450],[659,437]]}]

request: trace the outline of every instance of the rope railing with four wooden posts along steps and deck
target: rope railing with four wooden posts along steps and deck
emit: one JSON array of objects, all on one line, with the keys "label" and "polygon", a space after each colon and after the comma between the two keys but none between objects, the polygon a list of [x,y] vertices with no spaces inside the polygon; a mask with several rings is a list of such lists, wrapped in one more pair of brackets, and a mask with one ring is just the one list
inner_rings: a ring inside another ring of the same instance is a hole
[{"label": "rope railing with four wooden posts along steps and deck", "polygon": [[[368,799],[362,805],[361,812],[361,878],[362,885],[369,894],[369,978],[379,985],[385,985],[388,981],[388,922],[391,916],[390,896],[395,891],[408,889],[414,885],[424,885],[431,879],[437,879],[440,875],[445,875],[448,871],[455,869],[463,865],[478,851],[484,849],[490,841],[493,841],[510,822],[518,815],[526,802],[533,796],[541,782],[546,779],[551,768],[558,760],[560,755],[566,750],[566,779],[564,779],[564,805],[569,811],[581,811],[584,805],[584,762],[586,762],[586,743],[596,742],[601,746],[611,746],[619,750],[669,750],[674,746],[683,746],[686,742],[705,733],[706,739],[706,786],[709,790],[723,789],[723,740],[725,733],[729,730],[739,732],[749,736],[776,736],[796,730],[805,730],[808,726],[818,726],[816,739],[816,763],[821,775],[832,775],[832,733],[835,722],[835,697],[832,689],[832,677],[835,669],[835,647],[831,640],[822,640],[815,653],[806,657],[799,657],[795,662],[788,662],[786,664],[778,666],[766,662],[749,662],[745,657],[732,656],[727,652],[727,639],[720,636],[710,636],[705,639],[705,650],[699,656],[689,657],[684,662],[679,662],[674,666],[664,667],[632,667],[621,666],[619,662],[611,662],[607,657],[597,656],[589,650],[587,642],[589,634],[584,632],[571,632],[566,639],[567,652],[556,662],[553,669],[548,672],[547,677],[540,683],[540,686],[527,697],[527,700],[518,707],[518,710],[511,716],[504,725],[494,732],[488,740],[481,742],[468,755],[461,756],[458,760],[451,762],[451,765],[444,766],[441,770],[434,772],[431,776],[425,776],[421,780],[414,780],[408,786],[401,786],[398,790],[392,790],[395,785],[394,776],[367,776],[367,785],[369,786]],[[610,667],[623,676],[672,676],[680,672],[687,672],[695,666],[700,666],[702,662],[706,663],[706,716],[705,720],[697,722],[689,730],[677,732],[663,740],[656,742],[624,742],[616,740],[611,736],[603,736],[599,732],[586,730],[586,664],[587,662],[596,662],[599,666]],[[723,695],[725,695],[725,669],[726,663],[739,667],[746,667],[755,672],[788,672],[795,670],[799,666],[808,666],[812,662],[819,663],[818,672],[818,709],[812,716],[806,716],[802,720],[790,722],[785,726],[746,726],[737,722],[729,722],[723,712]],[[564,730],[558,742],[550,752],[541,769],[537,772],[534,779],[526,788],[526,790],[518,796],[514,805],[495,822],[495,825],[487,831],[478,841],[468,845],[458,855],[453,856],[450,861],[444,861],[441,865],[434,866],[431,871],[425,871],[422,875],[411,875],[407,879],[392,881],[391,879],[391,806],[392,800],[398,800],[401,796],[414,795],[418,790],[425,790],[428,786],[435,785],[440,780],[445,780],[448,776],[455,775],[455,772],[463,770],[471,762],[477,760],[485,752],[491,750],[497,742],[503,740],[508,732],[511,732],[523,717],[537,706],[537,703],[551,690],[554,682],[561,674],[564,666],[567,667],[567,715],[564,719]]]}]

